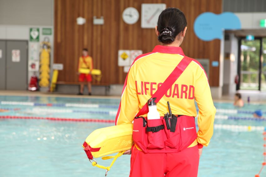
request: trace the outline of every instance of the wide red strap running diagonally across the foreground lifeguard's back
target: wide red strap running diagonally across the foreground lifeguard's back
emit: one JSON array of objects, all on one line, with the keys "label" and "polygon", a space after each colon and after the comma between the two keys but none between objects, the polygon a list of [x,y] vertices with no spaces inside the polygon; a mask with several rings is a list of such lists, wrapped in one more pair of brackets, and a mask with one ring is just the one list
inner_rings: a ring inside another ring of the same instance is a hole
[{"label": "wide red strap running diagonally across the foreground lifeguard's back", "polygon": [[[171,72],[171,74],[166,78],[160,88],[153,94],[151,98],[156,98],[156,102],[158,103],[164,94],[170,89],[170,87],[175,83],[175,81],[181,76],[181,74],[185,71],[187,66],[190,64],[192,60],[188,57],[182,58],[182,60],[178,63],[175,69]],[[147,114],[148,113],[148,105],[145,104],[136,117]]]}]

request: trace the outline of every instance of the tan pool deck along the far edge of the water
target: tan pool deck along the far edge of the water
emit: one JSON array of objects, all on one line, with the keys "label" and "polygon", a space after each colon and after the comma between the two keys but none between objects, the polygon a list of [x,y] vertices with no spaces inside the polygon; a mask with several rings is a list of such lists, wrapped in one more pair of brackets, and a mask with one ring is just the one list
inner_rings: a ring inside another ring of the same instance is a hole
[{"label": "tan pool deck along the far edge of the water", "polygon": [[[250,97],[251,103],[266,104],[266,92],[260,91],[238,91],[241,93],[244,102],[247,102],[248,96]],[[99,98],[99,99],[120,99],[120,96],[97,96],[97,95],[73,95],[73,94],[58,94],[50,92],[40,92],[40,91],[7,91],[0,90],[0,95],[7,96],[46,96],[46,97],[70,97],[70,98]],[[234,95],[222,96],[221,99],[214,99],[214,102],[233,102]]]}]

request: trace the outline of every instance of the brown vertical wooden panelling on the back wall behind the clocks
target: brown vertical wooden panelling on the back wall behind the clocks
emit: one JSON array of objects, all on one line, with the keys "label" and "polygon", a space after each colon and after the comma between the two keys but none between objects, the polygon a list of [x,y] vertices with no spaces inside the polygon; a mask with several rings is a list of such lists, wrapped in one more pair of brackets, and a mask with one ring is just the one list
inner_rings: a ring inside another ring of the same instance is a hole
[{"label": "brown vertical wooden panelling on the back wall behind the clocks", "polygon": [[[58,81],[78,82],[78,58],[82,48],[88,48],[94,67],[103,73],[102,83],[123,84],[126,73],[117,66],[119,49],[151,52],[158,45],[154,29],[141,28],[141,3],[166,3],[178,7],[187,18],[187,34],[182,43],[185,54],[192,58],[219,61],[220,40],[201,41],[193,31],[196,17],[203,12],[222,12],[222,0],[56,0],[54,1],[54,62],[63,63]],[[122,12],[135,7],[140,18],[133,25],[126,24]],[[77,17],[85,17],[86,24],[77,25]],[[93,16],[104,17],[104,25],[93,25]],[[211,86],[219,85],[219,68],[210,66]]]}]

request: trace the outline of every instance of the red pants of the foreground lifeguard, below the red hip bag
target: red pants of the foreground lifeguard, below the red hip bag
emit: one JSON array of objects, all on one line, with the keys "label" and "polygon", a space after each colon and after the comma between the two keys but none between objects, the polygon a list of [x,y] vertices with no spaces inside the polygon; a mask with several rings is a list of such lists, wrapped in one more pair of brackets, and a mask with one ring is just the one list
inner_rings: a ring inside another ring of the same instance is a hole
[{"label": "red pants of the foreground lifeguard, below the red hip bag", "polygon": [[197,177],[198,146],[176,153],[144,153],[131,148],[130,177]]}]

